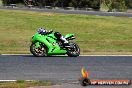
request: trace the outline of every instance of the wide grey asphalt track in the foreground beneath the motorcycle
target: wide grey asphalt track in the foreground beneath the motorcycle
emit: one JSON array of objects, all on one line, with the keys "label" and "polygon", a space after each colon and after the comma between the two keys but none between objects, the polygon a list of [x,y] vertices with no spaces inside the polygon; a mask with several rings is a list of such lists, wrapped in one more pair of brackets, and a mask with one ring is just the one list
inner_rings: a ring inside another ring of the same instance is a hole
[{"label": "wide grey asphalt track in the foreground beneath the motorcycle", "polygon": [[77,81],[82,66],[91,79],[132,79],[131,56],[0,55],[0,80]]}]

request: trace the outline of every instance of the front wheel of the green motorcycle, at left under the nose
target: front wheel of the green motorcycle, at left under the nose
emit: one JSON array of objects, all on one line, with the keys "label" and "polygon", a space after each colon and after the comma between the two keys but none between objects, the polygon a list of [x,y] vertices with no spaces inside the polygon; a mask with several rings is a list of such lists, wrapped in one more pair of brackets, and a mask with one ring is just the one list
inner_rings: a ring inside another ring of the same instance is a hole
[{"label": "front wheel of the green motorcycle, at left under the nose", "polygon": [[36,57],[47,56],[46,48],[42,44],[36,48],[35,44],[32,43],[30,46],[30,52]]}]

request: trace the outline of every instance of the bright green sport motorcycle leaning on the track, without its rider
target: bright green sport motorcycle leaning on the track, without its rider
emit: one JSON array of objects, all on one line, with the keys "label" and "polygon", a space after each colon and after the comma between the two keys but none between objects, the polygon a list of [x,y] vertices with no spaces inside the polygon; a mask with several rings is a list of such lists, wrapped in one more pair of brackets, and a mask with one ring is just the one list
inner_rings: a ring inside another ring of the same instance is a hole
[{"label": "bright green sport motorcycle leaning on the track, without its rider", "polygon": [[68,46],[64,46],[64,44],[55,37],[53,31],[50,31],[45,35],[37,32],[32,36],[30,52],[37,57],[65,54],[70,57],[79,56],[79,46],[73,42],[70,42],[70,40],[75,39],[74,34],[67,34],[64,36],[64,38],[69,41]]}]

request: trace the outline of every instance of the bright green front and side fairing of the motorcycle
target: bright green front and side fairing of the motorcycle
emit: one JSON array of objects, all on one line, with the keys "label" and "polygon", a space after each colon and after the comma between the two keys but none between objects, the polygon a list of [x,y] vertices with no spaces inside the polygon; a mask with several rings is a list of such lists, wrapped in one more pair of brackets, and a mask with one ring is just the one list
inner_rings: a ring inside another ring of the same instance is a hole
[{"label": "bright green front and side fairing of the motorcycle", "polygon": [[32,37],[32,43],[35,43],[35,48],[38,48],[40,46],[40,43],[42,43],[44,46],[47,47],[48,55],[66,54],[67,52],[66,50],[60,48],[54,34],[41,35],[36,33]]}]

